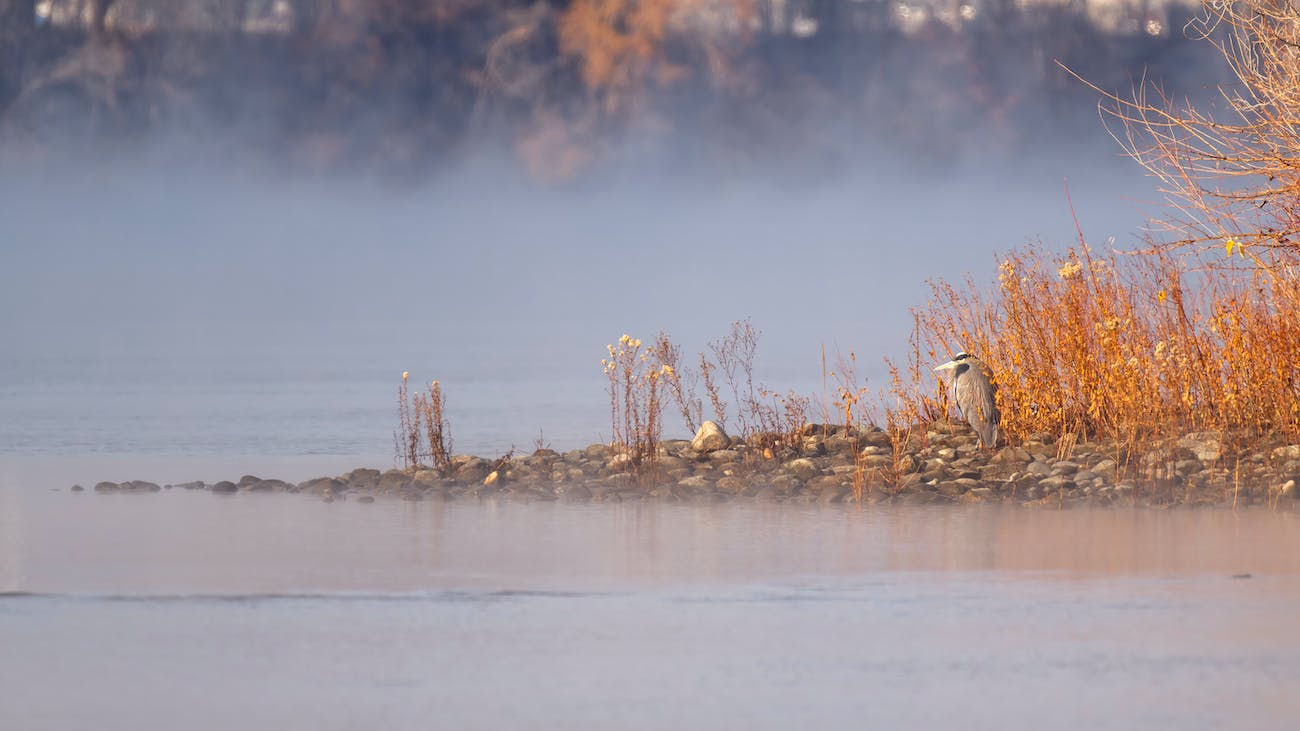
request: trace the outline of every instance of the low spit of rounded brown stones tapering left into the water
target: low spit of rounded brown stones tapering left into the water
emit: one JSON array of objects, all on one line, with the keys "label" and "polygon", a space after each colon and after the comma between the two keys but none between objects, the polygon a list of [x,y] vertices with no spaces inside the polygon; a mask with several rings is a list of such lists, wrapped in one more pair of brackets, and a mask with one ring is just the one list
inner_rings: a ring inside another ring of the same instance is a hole
[{"label": "low spit of rounded brown stones tapering left into the water", "polygon": [[[1130,455],[1114,442],[1030,438],[979,449],[961,423],[916,428],[897,446],[878,428],[809,424],[784,440],[731,438],[706,424],[694,440],[666,440],[655,459],[633,470],[608,445],[526,457],[458,455],[446,471],[358,468],[302,483],[246,475],[220,483],[159,485],[99,483],[99,493],[162,489],[304,493],[325,501],[376,498],[447,501],[793,503],[1265,505],[1296,509],[1300,445],[1280,437],[1239,440],[1200,432]],[[1124,467],[1127,464],[1127,467]],[[79,485],[73,488],[82,490]]]}]

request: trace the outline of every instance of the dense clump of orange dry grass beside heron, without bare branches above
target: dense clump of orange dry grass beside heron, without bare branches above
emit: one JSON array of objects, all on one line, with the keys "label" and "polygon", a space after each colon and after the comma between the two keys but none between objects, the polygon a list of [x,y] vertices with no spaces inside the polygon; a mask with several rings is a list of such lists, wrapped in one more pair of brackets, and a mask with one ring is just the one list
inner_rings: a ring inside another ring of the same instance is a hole
[{"label": "dense clump of orange dry grass beside heron, without bare branches above", "polygon": [[[1188,432],[1300,436],[1297,307],[1296,281],[1264,271],[1026,247],[992,295],[936,282],[918,326],[931,360],[968,350],[993,368],[1009,442],[1114,440],[1126,460]],[[924,379],[896,379],[919,421],[942,408]]]}]

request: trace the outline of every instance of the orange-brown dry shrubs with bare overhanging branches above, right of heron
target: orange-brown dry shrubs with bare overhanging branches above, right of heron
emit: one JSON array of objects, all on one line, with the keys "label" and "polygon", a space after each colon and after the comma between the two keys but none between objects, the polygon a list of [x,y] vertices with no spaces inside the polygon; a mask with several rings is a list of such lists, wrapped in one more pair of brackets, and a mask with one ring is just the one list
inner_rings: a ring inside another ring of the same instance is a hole
[{"label": "orange-brown dry shrubs with bare overhanging branches above, right of heron", "polygon": [[[1023,247],[992,293],[939,281],[918,313],[930,360],[967,350],[992,366],[1011,444],[1113,441],[1123,468],[1188,432],[1300,440],[1300,10],[1208,13],[1201,27],[1227,29],[1209,42],[1240,82],[1226,114],[1108,96],[1128,153],[1171,195],[1164,235],[1130,252],[1082,233],[1063,255]],[[933,416],[928,375],[896,384],[905,412]]]}]

